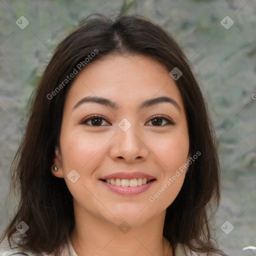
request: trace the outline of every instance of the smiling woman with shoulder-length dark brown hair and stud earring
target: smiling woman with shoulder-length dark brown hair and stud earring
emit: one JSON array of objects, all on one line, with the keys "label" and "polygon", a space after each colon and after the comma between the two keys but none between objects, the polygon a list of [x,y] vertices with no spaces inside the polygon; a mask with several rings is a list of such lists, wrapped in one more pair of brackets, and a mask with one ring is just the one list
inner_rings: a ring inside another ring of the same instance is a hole
[{"label": "smiling woman with shoulder-length dark brown hair and stud earring", "polygon": [[15,157],[1,240],[18,247],[0,255],[221,254],[218,158],[187,62],[138,15],[89,16],[59,43]]}]

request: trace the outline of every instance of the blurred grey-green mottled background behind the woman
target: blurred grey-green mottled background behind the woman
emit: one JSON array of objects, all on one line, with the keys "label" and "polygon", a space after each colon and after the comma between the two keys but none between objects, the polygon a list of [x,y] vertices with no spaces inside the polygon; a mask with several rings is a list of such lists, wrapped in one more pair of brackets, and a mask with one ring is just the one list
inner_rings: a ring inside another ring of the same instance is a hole
[{"label": "blurred grey-green mottled background behind the woman", "polygon": [[[191,62],[218,137],[222,199],[216,238],[224,251],[245,255],[241,248],[256,246],[255,0],[0,0],[0,233],[17,203],[6,201],[8,171],[26,106],[52,51],[87,15],[120,10],[161,25]],[[29,21],[23,29],[15,23],[20,16]],[[234,227],[228,234],[221,229],[225,221]]]}]

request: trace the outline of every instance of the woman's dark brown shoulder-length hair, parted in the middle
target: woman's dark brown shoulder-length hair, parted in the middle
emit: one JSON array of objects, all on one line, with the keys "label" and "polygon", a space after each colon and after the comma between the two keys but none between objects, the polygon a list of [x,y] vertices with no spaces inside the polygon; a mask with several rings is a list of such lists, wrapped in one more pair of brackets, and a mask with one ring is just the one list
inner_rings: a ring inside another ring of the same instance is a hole
[{"label": "woman's dark brown shoulder-length hair, parted in the middle", "polygon": [[[38,85],[24,138],[12,163],[10,190],[20,196],[17,212],[1,240],[16,232],[24,221],[24,249],[61,255],[61,247],[74,228],[72,195],[64,179],[52,175],[54,148],[59,143],[65,95],[72,79],[48,99],[54,89],[88,54],[98,53],[90,63],[112,54],[143,54],[160,61],[169,71],[183,73],[176,80],[188,123],[192,162],[175,200],[167,207],[163,235],[173,247],[178,242],[195,252],[218,252],[211,236],[210,220],[220,199],[219,163],[206,103],[189,62],[171,35],[139,15],[110,19],[89,15],[56,47]],[[84,67],[86,68],[86,66]]]}]

